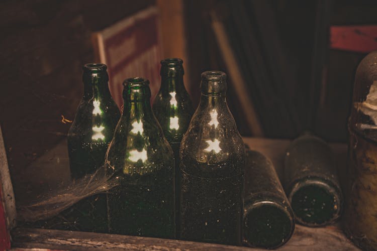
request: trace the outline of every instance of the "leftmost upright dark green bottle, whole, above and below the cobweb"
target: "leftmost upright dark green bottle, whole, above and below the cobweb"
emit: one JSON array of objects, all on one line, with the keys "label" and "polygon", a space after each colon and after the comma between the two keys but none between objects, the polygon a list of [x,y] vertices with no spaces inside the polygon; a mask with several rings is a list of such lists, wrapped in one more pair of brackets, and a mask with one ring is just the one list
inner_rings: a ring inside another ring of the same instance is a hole
[{"label": "leftmost upright dark green bottle, whole, above and below the cobweb", "polygon": [[[105,155],[120,117],[109,90],[107,66],[83,66],[84,93],[68,131],[71,177],[78,179],[103,167]],[[61,213],[62,229],[107,232],[106,196],[83,199]]]}]

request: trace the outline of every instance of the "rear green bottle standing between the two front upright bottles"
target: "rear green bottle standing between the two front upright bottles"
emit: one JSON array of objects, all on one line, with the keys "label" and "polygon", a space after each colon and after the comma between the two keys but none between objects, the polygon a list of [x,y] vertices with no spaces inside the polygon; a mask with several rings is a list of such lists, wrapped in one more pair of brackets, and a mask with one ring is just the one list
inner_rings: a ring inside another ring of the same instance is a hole
[{"label": "rear green bottle standing between the two front upright bottles", "polygon": [[[183,84],[183,61],[179,58],[161,60],[161,87],[153,103],[153,112],[174,152],[175,159],[175,215],[179,233],[179,146],[189,128],[194,108]],[[179,237],[179,236],[177,236]]]}]

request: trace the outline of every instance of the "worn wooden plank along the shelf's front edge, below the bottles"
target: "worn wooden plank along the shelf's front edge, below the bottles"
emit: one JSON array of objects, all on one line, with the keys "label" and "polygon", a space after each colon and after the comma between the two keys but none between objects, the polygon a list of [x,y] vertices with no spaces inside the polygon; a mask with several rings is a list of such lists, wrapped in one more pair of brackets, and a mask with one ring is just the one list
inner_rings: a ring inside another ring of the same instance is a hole
[{"label": "worn wooden plank along the shelf's front edge, below the bottles", "polygon": [[63,250],[247,250],[192,241],[137,237],[118,234],[18,228],[12,233],[12,247]]}]

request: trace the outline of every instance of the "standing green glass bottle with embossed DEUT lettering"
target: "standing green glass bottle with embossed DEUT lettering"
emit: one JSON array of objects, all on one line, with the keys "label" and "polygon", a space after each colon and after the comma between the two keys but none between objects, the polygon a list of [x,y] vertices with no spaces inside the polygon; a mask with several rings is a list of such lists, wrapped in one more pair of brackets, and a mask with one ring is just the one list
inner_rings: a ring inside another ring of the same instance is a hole
[{"label": "standing green glass bottle with embossed DEUT lettering", "polygon": [[149,81],[124,81],[124,109],[106,154],[111,233],[175,237],[174,155],[150,105]]}]

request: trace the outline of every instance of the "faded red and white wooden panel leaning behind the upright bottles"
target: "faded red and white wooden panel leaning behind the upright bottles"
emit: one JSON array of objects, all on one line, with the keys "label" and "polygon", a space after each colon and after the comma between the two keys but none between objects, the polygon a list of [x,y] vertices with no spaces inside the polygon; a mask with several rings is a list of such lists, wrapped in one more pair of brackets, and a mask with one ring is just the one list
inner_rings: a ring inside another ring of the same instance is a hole
[{"label": "faded red and white wooden panel leaning behind the upright bottles", "polygon": [[150,82],[153,97],[160,88],[161,42],[158,9],[146,8],[92,34],[99,62],[108,66],[109,88],[123,106],[123,81],[141,76]]}]

